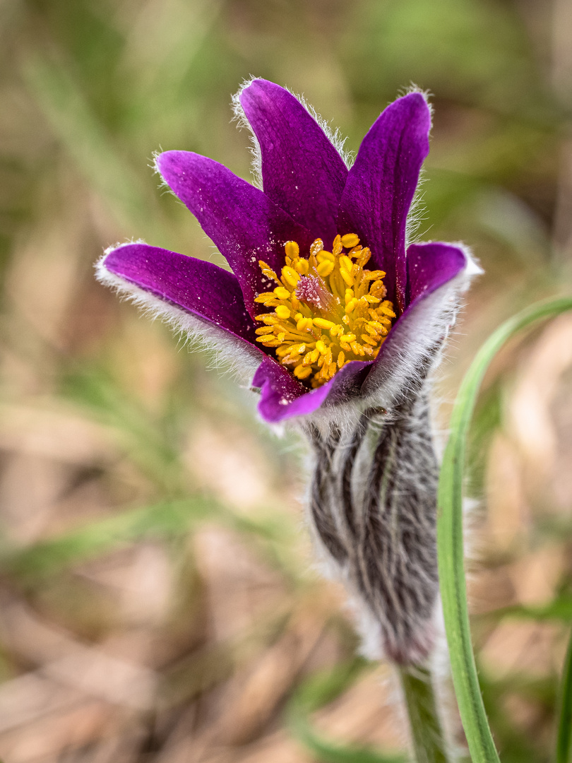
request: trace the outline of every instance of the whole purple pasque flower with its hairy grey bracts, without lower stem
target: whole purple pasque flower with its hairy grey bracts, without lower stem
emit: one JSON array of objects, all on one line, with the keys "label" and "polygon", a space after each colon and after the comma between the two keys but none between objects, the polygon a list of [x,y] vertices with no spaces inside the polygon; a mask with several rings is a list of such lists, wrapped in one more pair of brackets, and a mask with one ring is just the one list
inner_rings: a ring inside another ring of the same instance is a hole
[{"label": "whole purple pasque flower with its hairy grey bracts, without lower stem", "polygon": [[233,272],[127,243],[98,277],[232,359],[265,420],[299,423],[315,454],[313,526],[362,607],[370,652],[415,662],[432,646],[438,591],[426,380],[478,271],[462,246],[408,242],[431,111],[421,92],[398,98],[348,166],[278,85],[253,79],[235,106],[261,188],[196,153],[156,158]]}]

